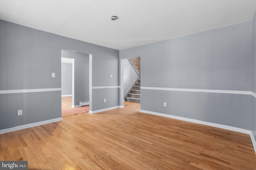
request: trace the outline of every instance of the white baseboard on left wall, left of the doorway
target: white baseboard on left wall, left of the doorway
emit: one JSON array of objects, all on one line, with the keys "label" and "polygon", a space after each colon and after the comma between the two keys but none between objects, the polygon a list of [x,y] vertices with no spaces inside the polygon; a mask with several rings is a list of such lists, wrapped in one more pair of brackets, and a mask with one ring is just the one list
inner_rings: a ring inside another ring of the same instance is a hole
[{"label": "white baseboard on left wall, left of the doorway", "polygon": [[53,123],[53,122],[56,122],[56,121],[62,121],[62,117],[59,117],[59,118],[56,118],[56,119],[50,119],[50,120],[46,120],[46,121],[39,121],[39,122],[36,122],[36,123],[29,123],[29,124],[26,124],[26,125],[20,125],[20,126],[16,126],[16,127],[11,127],[11,128],[8,128],[8,129],[2,129],[2,130],[0,130],[0,134],[12,132],[12,131],[18,131],[20,129],[26,129],[26,128],[29,128],[29,127],[44,125],[44,124],[47,124],[47,123]]}]

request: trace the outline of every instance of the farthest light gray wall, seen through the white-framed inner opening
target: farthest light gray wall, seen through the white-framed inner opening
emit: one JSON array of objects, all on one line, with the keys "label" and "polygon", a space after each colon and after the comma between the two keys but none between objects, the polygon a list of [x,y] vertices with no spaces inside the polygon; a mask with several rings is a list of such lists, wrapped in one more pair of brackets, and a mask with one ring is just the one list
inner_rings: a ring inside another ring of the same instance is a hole
[{"label": "farthest light gray wall, seen through the white-framed inner opening", "polygon": [[71,63],[61,63],[61,95],[72,95]]}]

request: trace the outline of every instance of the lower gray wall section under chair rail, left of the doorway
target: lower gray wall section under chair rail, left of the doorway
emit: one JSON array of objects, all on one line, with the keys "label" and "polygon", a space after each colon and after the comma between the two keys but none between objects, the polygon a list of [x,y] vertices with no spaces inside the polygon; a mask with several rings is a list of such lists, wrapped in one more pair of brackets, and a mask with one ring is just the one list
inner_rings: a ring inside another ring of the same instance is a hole
[{"label": "lower gray wall section under chair rail, left of the doorway", "polygon": [[0,94],[0,129],[61,117],[60,96],[60,91]]}]

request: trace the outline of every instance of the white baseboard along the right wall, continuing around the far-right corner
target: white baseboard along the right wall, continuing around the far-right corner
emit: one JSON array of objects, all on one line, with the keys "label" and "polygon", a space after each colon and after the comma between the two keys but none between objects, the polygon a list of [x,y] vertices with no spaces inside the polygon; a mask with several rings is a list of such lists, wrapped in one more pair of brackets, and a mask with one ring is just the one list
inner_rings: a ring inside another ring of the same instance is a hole
[{"label": "white baseboard along the right wall, continuing around the far-right corner", "polygon": [[182,120],[182,121],[188,121],[188,122],[192,122],[192,123],[198,123],[198,124],[202,124],[202,125],[208,125],[208,126],[212,126],[212,127],[218,127],[218,128],[221,128],[221,129],[226,129],[226,130],[230,130],[230,131],[236,131],[236,132],[248,134],[251,137],[254,152],[256,154],[256,141],[255,141],[254,135],[252,134],[252,131],[250,131],[250,130],[246,130],[246,129],[242,129],[242,128],[238,128],[238,127],[227,126],[227,125],[220,125],[220,124],[217,124],[217,123],[210,123],[210,122],[206,122],[206,121],[200,121],[200,120],[196,120],[196,119],[189,119],[189,118],[186,118],[186,117],[168,115],[168,114],[164,114],[164,113],[157,113],[157,112],[154,112],[154,111],[140,110],[140,112],[148,113],[148,114],[151,114],[151,115],[162,116],[162,117],[168,117],[168,118],[172,118],[172,119],[178,119],[178,120]]}]

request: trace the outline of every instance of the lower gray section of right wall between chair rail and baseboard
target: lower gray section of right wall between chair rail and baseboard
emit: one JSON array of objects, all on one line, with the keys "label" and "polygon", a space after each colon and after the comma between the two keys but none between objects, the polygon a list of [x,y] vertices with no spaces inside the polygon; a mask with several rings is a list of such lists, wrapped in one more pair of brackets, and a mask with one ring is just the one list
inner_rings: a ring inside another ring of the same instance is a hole
[{"label": "lower gray section of right wall between chair rail and baseboard", "polygon": [[[149,102],[147,98],[154,101]],[[140,100],[143,110],[242,129],[251,126],[250,95],[142,89]],[[167,102],[166,107],[163,107],[164,102]]]}]

